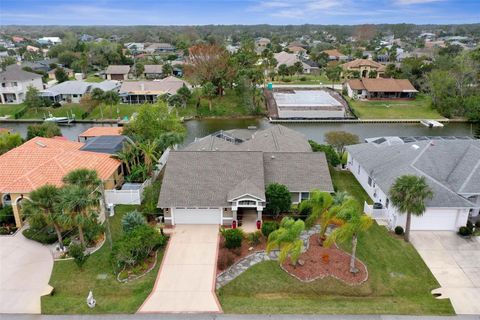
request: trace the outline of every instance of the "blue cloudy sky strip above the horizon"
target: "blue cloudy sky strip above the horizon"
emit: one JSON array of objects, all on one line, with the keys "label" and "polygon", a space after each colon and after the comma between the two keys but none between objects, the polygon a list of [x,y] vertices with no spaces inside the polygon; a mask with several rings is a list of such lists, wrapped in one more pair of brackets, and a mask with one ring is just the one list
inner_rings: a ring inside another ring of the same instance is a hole
[{"label": "blue cloudy sky strip above the horizon", "polygon": [[0,25],[477,23],[480,0],[0,0]]}]

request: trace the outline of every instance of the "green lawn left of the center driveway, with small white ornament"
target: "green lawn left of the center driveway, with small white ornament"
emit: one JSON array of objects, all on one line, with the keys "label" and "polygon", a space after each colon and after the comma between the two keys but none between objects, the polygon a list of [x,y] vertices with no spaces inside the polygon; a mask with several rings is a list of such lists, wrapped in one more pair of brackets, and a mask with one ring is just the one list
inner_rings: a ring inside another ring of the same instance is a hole
[{"label": "green lawn left of the center driveway, with small white ornament", "polygon": [[[116,206],[110,225],[113,241],[121,236],[121,217],[137,206]],[[50,285],[55,288],[53,296],[42,297],[42,313],[134,313],[153,288],[163,251],[159,251],[157,265],[146,276],[129,283],[115,279],[110,263],[108,243],[90,256],[80,271],[73,261],[58,261],[53,266]],[[101,279],[106,275],[106,279]],[[86,304],[89,290],[97,300],[95,308]]]}]

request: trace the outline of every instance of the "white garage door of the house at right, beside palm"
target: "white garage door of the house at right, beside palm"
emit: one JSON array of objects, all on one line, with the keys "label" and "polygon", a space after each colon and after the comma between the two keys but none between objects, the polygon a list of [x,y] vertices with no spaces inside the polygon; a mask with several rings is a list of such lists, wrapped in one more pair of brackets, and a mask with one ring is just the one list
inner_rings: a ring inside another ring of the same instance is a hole
[{"label": "white garage door of the house at right, beside palm", "polygon": [[428,210],[420,217],[412,216],[412,230],[457,230],[457,210]]}]

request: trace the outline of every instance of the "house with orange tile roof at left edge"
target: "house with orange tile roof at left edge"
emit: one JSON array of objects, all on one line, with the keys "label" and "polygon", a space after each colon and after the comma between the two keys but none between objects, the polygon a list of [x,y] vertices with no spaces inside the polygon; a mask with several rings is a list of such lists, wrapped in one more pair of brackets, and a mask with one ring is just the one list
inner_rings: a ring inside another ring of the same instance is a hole
[{"label": "house with orange tile roof at left edge", "polygon": [[45,185],[61,186],[62,178],[75,169],[96,170],[105,189],[123,183],[121,162],[110,154],[80,150],[83,143],[35,137],[0,156],[0,200],[12,205],[17,227],[25,217],[21,201]]}]

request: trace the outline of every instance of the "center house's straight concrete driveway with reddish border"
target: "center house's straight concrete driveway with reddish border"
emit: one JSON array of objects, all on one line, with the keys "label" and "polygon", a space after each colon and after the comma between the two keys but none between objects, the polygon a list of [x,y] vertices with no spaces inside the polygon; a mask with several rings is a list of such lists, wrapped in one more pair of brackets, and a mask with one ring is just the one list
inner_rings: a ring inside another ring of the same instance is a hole
[{"label": "center house's straight concrete driveway with reddish border", "polygon": [[221,312],[215,295],[218,225],[177,225],[138,312]]}]

